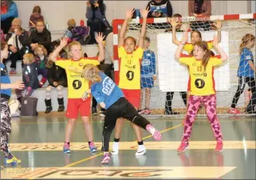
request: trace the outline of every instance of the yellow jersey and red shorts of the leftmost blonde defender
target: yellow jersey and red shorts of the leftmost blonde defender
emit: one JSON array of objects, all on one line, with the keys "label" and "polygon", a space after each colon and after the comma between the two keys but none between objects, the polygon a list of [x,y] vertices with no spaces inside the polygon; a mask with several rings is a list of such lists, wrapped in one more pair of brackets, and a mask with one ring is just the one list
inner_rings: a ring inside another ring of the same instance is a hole
[{"label": "yellow jersey and red shorts of the leftmost blonde defender", "polygon": [[64,68],[68,79],[68,105],[66,110],[66,117],[69,119],[77,119],[78,112],[81,116],[89,116],[91,108],[91,97],[83,101],[81,96],[89,90],[89,81],[81,77],[79,72],[73,72],[69,70],[69,67],[82,70],[84,65],[93,64],[99,65],[99,61],[96,58],[81,58],[79,61],[66,60],[58,58],[56,65]]}]

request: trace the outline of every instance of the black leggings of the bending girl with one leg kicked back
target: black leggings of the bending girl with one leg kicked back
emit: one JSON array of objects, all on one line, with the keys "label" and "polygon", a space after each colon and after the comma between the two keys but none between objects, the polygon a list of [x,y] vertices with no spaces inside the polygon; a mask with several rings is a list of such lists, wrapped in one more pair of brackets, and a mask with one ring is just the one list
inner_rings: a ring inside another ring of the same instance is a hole
[{"label": "black leggings of the bending girl with one leg kicked back", "polygon": [[110,135],[116,126],[116,119],[120,117],[128,119],[132,123],[135,123],[144,129],[146,129],[146,126],[150,124],[147,119],[138,114],[136,109],[128,102],[128,100],[121,97],[105,112],[104,127],[102,131],[102,144],[104,152],[108,152],[109,150]]}]

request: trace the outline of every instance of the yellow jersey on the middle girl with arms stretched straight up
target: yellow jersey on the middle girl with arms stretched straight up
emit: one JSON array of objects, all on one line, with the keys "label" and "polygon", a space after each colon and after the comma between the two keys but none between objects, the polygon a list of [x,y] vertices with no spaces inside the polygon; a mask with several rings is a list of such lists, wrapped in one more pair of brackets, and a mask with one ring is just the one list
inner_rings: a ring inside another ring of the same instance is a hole
[{"label": "yellow jersey on the middle girl with arms stretched straight up", "polygon": [[133,53],[126,53],[124,46],[118,48],[119,88],[140,89],[140,63],[144,49],[138,47]]}]

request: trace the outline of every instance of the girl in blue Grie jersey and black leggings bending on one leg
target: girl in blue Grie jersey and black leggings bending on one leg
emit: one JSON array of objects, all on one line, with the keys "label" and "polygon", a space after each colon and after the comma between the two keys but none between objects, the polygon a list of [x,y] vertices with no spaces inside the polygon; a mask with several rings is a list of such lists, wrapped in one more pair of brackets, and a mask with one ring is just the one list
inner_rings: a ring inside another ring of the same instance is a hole
[{"label": "girl in blue Grie jersey and black leggings bending on one leg", "polygon": [[92,82],[91,89],[88,92],[85,92],[85,95],[82,98],[85,99],[88,93],[92,93],[101,108],[106,109],[102,132],[104,151],[102,164],[108,164],[110,161],[108,154],[109,139],[112,130],[116,126],[116,119],[118,118],[123,117],[124,119],[128,119],[132,123],[135,123],[139,127],[150,132],[154,139],[161,139],[160,132],[156,131],[147,119],[139,115],[132,104],[124,98],[124,93],[121,89],[118,88],[113,80],[106,76],[104,72],[100,72],[95,65],[85,65],[84,70],[81,73],[81,76],[85,77],[85,80]]}]

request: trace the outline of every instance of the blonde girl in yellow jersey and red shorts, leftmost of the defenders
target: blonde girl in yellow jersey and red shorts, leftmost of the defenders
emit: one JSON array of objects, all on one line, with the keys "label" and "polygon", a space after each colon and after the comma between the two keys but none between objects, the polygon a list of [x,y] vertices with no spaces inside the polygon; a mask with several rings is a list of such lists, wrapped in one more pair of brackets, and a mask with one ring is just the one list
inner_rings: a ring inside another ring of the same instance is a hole
[{"label": "blonde girl in yellow jersey and red shorts, leftmost of the defenders", "polygon": [[84,65],[93,64],[99,65],[99,61],[104,60],[104,47],[102,34],[99,33],[96,37],[96,41],[99,44],[99,56],[98,57],[86,57],[82,56],[81,44],[77,41],[73,41],[69,44],[69,59],[57,58],[61,49],[67,45],[68,38],[64,37],[61,40],[61,44],[53,51],[49,59],[54,61],[56,65],[61,68],[65,68],[68,79],[68,106],[66,110],[66,117],[69,118],[69,122],[65,131],[65,143],[63,147],[64,153],[70,153],[69,142],[73,133],[73,127],[75,125],[78,113],[80,112],[81,120],[85,127],[85,135],[89,140],[89,149],[91,152],[96,151],[96,147],[93,143],[93,127],[89,122],[91,97],[87,100],[81,100],[84,92],[89,89],[89,81],[81,77],[81,74],[77,71],[82,70]]}]

